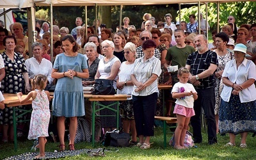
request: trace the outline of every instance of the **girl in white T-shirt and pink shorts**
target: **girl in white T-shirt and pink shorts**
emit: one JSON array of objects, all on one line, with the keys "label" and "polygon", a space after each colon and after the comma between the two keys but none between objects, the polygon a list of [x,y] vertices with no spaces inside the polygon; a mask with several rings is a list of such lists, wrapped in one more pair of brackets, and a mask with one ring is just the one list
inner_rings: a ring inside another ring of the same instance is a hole
[{"label": "girl in white T-shirt and pink shorts", "polygon": [[188,130],[188,124],[191,116],[195,115],[194,100],[198,98],[194,86],[188,83],[188,68],[181,67],[178,70],[179,82],[172,88],[172,97],[175,101],[173,113],[177,115],[177,127],[175,129],[175,149],[184,149],[184,139]]}]

